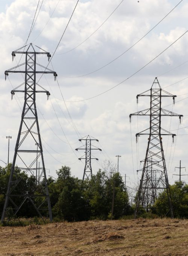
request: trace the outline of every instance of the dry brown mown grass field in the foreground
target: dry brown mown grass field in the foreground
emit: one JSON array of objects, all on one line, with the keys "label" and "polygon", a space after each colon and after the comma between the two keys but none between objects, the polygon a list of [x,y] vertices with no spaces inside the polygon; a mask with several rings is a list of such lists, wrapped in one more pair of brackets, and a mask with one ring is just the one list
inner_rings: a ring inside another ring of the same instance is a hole
[{"label": "dry brown mown grass field in the foreground", "polygon": [[140,218],[0,227],[0,255],[188,255],[188,220]]}]

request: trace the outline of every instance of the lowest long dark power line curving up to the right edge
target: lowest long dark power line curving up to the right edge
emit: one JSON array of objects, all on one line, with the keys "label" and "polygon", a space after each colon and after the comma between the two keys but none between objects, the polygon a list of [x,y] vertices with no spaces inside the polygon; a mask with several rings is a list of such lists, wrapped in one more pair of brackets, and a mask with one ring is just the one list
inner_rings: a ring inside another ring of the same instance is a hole
[{"label": "lowest long dark power line curving up to the right edge", "polygon": [[127,77],[126,79],[124,79],[123,81],[121,81],[120,83],[116,84],[115,86],[109,88],[108,90],[105,90],[104,92],[97,94],[95,96],[92,96],[90,98],[86,98],[84,100],[77,100],[77,101],[67,101],[66,102],[80,102],[80,101],[85,101],[85,100],[91,100],[93,98],[96,98],[102,94],[105,94],[106,92],[109,92],[110,90],[114,89],[115,87],[119,86],[120,84],[124,83],[125,81],[127,81],[129,78],[133,77],[134,75],[136,75],[139,71],[141,71],[142,69],[144,69],[146,66],[148,66],[150,63],[152,63],[152,61],[154,61],[156,58],[158,58],[161,54],[163,54],[168,48],[170,48],[174,43],[176,43],[181,37],[183,37],[183,35],[185,35],[188,32],[188,30],[186,32],[184,32],[179,38],[177,38],[173,43],[171,43],[167,48],[165,48],[160,54],[158,54],[155,58],[153,58],[152,60],[150,60],[146,65],[144,65],[143,67],[141,67],[140,69],[138,69],[135,73],[133,73],[132,75],[130,75],[129,77]]}]

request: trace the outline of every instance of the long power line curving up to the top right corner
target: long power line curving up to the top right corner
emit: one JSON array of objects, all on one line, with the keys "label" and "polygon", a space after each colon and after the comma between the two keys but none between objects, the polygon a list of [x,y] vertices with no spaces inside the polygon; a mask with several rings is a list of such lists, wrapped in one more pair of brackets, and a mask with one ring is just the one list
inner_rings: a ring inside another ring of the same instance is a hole
[{"label": "long power line curving up to the top right corner", "polygon": [[[168,12],[167,15],[165,15],[165,17],[162,18],[162,20],[164,20],[183,0],[181,0],[170,12]],[[146,37],[146,35],[148,35],[154,28],[156,28],[156,26],[159,25],[159,23],[161,23],[160,20],[152,29],[150,29],[143,37],[141,37],[138,41],[136,41],[136,43],[134,43],[132,46],[130,46],[125,52],[123,52],[122,54],[120,54],[118,57],[116,57],[114,60],[110,61],[109,63],[105,64],[104,66],[100,67],[99,69],[96,69],[92,72],[89,72],[87,74],[84,74],[84,75],[79,75],[77,77],[67,77],[67,78],[79,78],[79,77],[85,77],[86,75],[90,75],[90,74],[93,74],[97,71],[99,71],[100,69],[103,69],[104,67],[108,66],[109,64],[111,64],[112,62],[114,62],[115,60],[117,60],[118,58],[120,58],[123,54],[125,54],[127,51],[129,51],[131,48],[133,48],[133,46],[135,46],[137,43],[139,43],[139,41],[141,41],[144,37]],[[65,76],[64,76],[65,77]]]}]

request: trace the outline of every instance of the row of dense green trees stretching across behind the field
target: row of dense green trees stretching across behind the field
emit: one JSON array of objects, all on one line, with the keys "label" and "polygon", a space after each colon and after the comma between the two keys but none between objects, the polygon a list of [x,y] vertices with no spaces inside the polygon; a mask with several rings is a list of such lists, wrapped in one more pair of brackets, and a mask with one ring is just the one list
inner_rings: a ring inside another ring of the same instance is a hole
[{"label": "row of dense green trees stretching across behind the field", "polygon": [[[11,164],[7,168],[0,167],[0,215],[3,211],[5,195],[7,191]],[[17,186],[17,192],[23,194],[45,192],[44,182],[36,187],[34,176],[28,176],[16,169],[17,177],[21,182]],[[99,170],[90,179],[75,178],[71,175],[68,166],[62,166],[56,171],[58,178],[47,179],[53,219],[57,221],[87,221],[91,219],[118,219],[129,215],[133,216],[136,195],[133,204],[130,204],[129,195],[121,175]],[[183,182],[175,182],[170,185],[171,199],[175,218],[188,218],[188,185]],[[114,193],[113,193],[114,190]],[[114,207],[112,216],[112,196],[114,194]],[[18,199],[19,200],[19,199]],[[18,202],[19,203],[19,202]],[[9,211],[11,217],[11,209]],[[149,213],[144,209],[140,216],[152,214],[153,216],[168,216],[168,197],[164,190],[156,199],[155,205]],[[37,213],[26,201],[17,213],[16,217],[32,218]]]}]

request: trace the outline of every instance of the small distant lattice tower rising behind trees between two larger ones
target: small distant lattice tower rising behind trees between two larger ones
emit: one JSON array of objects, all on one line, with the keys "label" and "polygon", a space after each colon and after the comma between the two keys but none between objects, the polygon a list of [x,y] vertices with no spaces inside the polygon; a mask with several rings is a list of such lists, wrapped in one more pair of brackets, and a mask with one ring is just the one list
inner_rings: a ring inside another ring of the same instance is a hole
[{"label": "small distant lattice tower rising behind trees between two larger ones", "polygon": [[89,178],[90,176],[92,177],[92,168],[91,168],[91,159],[96,159],[99,160],[98,158],[92,158],[91,157],[91,150],[100,150],[98,147],[92,146],[91,141],[99,141],[98,139],[92,138],[88,135],[83,137],[82,139],[79,139],[79,141],[85,141],[85,147],[81,146],[77,148],[76,150],[85,150],[85,157],[84,155],[81,158],[78,158],[79,160],[85,159],[85,167],[83,171],[83,179],[84,180],[85,176],[86,178]]}]

